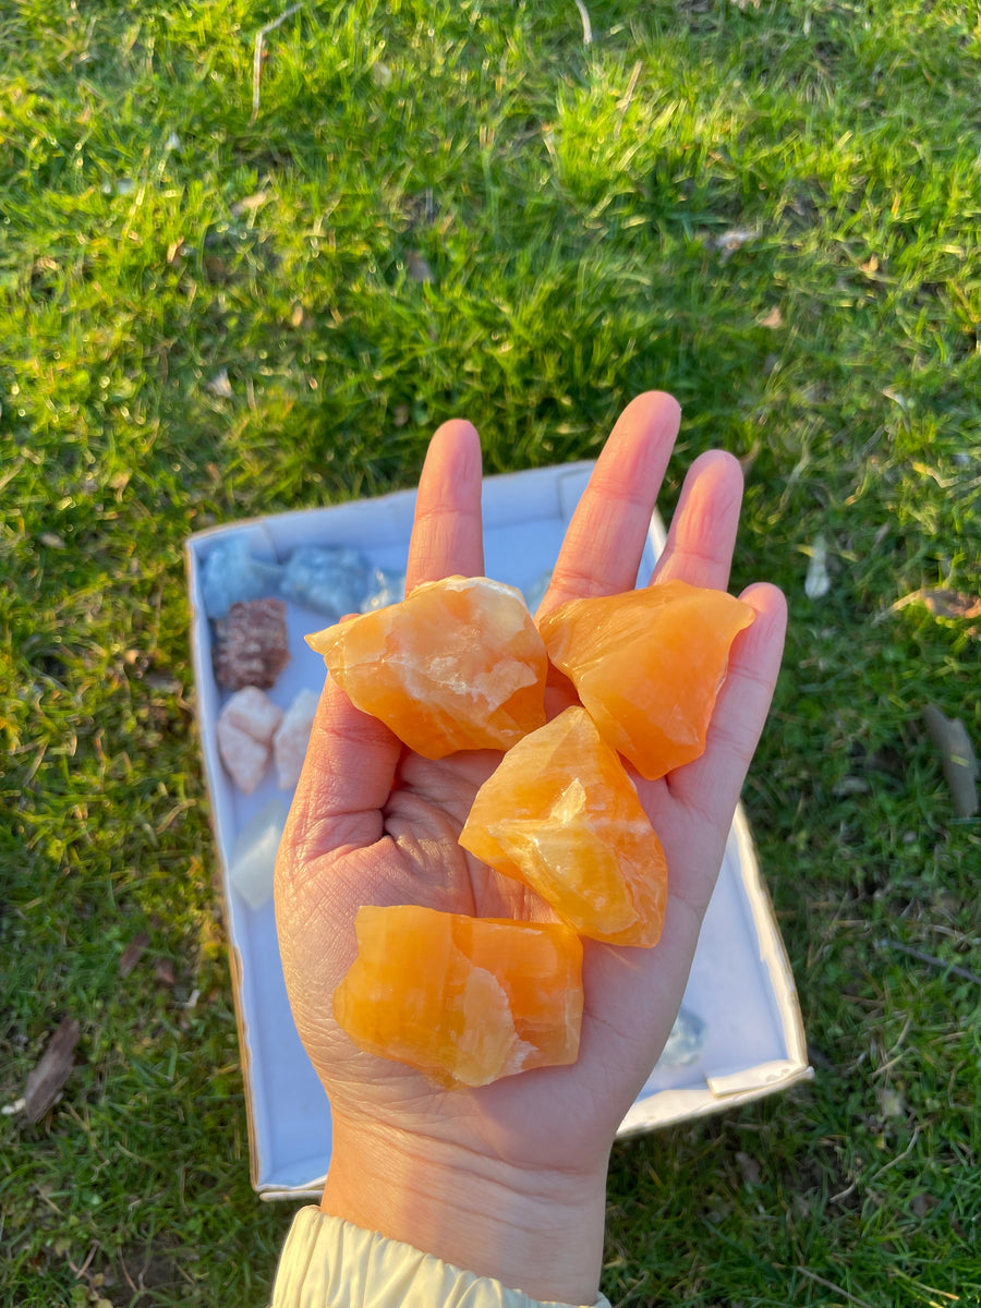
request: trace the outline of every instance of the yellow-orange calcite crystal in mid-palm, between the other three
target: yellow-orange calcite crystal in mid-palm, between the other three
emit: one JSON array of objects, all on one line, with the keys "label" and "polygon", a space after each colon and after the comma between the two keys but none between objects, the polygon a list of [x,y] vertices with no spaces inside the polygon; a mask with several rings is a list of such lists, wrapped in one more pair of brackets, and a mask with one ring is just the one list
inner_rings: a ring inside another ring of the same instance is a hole
[{"label": "yellow-orange calcite crystal in mid-palm, between the other three", "polygon": [[664,853],[585,709],[566,709],[505,755],[477,791],[460,845],[531,886],[582,935],[658,942]]}]

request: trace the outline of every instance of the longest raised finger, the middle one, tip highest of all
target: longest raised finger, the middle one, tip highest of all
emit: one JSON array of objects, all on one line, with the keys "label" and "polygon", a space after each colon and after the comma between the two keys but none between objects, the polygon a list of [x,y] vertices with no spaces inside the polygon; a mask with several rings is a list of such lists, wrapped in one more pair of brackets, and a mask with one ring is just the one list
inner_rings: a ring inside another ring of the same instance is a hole
[{"label": "longest raised finger, the middle one, tip highest of all", "polygon": [[680,421],[678,400],[661,391],[627,405],[569,523],[539,612],[633,589]]}]

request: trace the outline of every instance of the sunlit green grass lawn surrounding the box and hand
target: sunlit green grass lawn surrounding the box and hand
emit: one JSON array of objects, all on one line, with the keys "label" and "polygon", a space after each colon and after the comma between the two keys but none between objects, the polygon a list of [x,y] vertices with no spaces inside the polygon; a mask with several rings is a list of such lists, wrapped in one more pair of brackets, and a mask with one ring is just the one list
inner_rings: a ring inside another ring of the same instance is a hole
[{"label": "sunlit green grass lawn surrounding the box and hand", "polygon": [[489,471],[591,456],[651,386],[667,506],[740,455],[734,582],[790,598],[746,802],[818,1075],[617,1146],[604,1290],[981,1298],[981,990],[895,948],[981,972],[921,719],[981,739],[978,627],[892,607],[978,591],[978,16],[587,7],[589,50],[564,0],[307,4],[250,122],[284,7],[0,5],[0,1099],[82,1028],[0,1120],[3,1303],[259,1305],[289,1220],[249,1185],[186,535],[411,485],[458,413]]}]

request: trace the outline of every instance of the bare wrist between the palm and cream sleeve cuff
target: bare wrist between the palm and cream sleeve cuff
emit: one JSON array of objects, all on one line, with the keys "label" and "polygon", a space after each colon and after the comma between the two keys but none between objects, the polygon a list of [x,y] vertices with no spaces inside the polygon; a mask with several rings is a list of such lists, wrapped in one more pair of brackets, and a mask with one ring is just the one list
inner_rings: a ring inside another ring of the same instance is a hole
[{"label": "bare wrist between the palm and cream sleeve cuff", "polygon": [[453,1142],[336,1120],[320,1209],[532,1299],[599,1292],[606,1164],[521,1168]]}]

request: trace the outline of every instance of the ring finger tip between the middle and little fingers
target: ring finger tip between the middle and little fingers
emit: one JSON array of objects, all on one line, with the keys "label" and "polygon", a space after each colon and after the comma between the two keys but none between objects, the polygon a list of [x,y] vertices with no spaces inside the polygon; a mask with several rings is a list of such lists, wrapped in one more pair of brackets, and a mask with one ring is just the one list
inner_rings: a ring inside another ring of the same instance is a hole
[{"label": "ring finger tip between the middle and little fingers", "polygon": [[698,455],[684,479],[653,579],[725,590],[742,502],[739,460],[725,450]]}]

